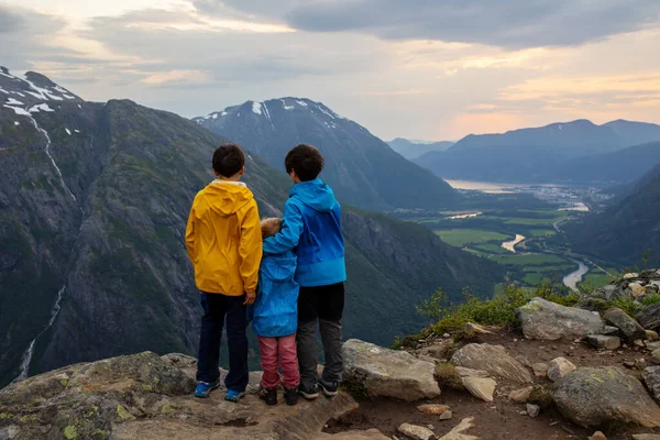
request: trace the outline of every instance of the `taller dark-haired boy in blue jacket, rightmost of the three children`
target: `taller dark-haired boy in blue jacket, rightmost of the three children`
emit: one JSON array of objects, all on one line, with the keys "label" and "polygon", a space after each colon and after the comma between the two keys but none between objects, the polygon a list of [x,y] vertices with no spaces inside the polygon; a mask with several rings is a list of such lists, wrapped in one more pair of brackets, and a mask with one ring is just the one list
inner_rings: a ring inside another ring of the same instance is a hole
[{"label": "taller dark-haired boy in blue jacket, rightmost of the three children", "polygon": [[[282,231],[264,240],[264,255],[296,251],[298,295],[298,392],[308,399],[337,395],[343,371],[341,318],[346,268],[341,234],[341,207],[332,189],[318,178],[323,156],[310,145],[288,152],[285,167],[294,187],[284,208]],[[317,321],[326,354],[321,377],[317,373]]]}]

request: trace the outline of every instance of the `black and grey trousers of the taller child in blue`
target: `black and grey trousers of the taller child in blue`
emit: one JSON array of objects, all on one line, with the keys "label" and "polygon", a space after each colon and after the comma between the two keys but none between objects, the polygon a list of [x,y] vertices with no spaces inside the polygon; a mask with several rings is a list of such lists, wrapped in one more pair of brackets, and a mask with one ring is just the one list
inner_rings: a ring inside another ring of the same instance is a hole
[{"label": "black and grey trousers of the taller child in blue", "polygon": [[343,372],[341,318],[344,307],[344,284],[300,287],[298,295],[298,364],[300,382],[312,385],[318,381],[317,321],[326,354],[323,381],[341,382]]}]

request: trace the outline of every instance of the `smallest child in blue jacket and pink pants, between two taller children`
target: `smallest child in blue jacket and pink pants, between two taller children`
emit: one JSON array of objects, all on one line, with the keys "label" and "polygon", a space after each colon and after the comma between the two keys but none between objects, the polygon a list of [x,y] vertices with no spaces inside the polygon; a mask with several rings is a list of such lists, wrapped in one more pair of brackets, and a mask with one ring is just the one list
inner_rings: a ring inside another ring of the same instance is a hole
[{"label": "smallest child in blue jacket and pink pants, between two taller children", "polygon": [[[282,230],[282,219],[261,222],[262,237],[274,237]],[[298,403],[298,355],[296,327],[298,326],[298,283],[296,254],[289,250],[280,254],[264,255],[258,271],[258,295],[253,308],[252,329],[258,337],[258,349],[264,375],[260,398],[267,405],[277,404],[279,373],[284,375],[284,397],[287,405]]]}]

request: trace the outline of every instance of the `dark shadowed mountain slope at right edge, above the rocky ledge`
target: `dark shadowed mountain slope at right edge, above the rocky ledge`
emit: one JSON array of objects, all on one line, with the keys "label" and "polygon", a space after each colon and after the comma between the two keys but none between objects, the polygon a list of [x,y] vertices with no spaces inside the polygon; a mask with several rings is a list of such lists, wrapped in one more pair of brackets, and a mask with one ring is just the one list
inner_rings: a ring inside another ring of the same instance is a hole
[{"label": "dark shadowed mountain slope at right edge, above the rocky ledge", "polygon": [[636,266],[650,249],[648,264],[659,265],[660,165],[629,193],[617,197],[604,212],[568,224],[565,233],[576,252],[622,266]]}]

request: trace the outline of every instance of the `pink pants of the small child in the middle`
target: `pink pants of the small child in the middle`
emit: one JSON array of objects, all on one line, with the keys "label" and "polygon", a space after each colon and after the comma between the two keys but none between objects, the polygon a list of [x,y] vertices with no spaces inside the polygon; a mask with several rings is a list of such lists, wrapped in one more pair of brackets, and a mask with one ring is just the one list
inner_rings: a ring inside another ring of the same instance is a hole
[{"label": "pink pants of the small child in the middle", "polygon": [[296,352],[296,334],[282,338],[262,338],[258,337],[258,350],[262,356],[262,369],[264,376],[262,386],[264,388],[275,388],[279,385],[279,373],[277,372],[277,361],[282,366],[284,375],[284,386],[295,388],[300,382],[298,373],[298,354]]}]

